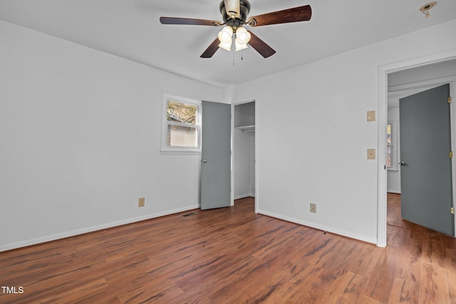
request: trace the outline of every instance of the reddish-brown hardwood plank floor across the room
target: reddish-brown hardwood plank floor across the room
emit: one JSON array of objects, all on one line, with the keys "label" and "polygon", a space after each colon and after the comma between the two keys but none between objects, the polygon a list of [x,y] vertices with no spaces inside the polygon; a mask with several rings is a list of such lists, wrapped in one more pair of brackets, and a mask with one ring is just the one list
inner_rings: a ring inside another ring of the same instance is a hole
[{"label": "reddish-brown hardwood plank floor across the room", "polygon": [[0,303],[455,304],[456,240],[398,208],[388,194],[387,248],[254,214],[242,199],[7,251]]}]

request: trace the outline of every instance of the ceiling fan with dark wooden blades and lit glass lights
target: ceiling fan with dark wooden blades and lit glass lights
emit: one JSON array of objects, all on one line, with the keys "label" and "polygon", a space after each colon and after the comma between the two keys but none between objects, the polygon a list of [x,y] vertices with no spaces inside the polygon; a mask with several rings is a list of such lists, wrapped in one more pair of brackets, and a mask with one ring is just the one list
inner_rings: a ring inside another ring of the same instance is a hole
[{"label": "ceiling fan with dark wooden blades and lit glass lights", "polygon": [[174,18],[160,17],[162,24],[185,24],[194,26],[224,26],[219,32],[217,38],[202,53],[201,58],[211,58],[219,48],[227,51],[231,50],[232,38],[236,51],[247,48],[247,44],[252,46],[264,58],[274,55],[276,51],[268,46],[254,33],[247,31],[244,25],[249,26],[267,26],[279,23],[291,23],[300,21],[309,21],[312,16],[311,6],[298,6],[292,9],[282,11],[273,11],[268,14],[261,14],[247,19],[250,11],[250,3],[247,0],[223,0],[219,5],[222,14],[223,23],[214,20],[192,19],[192,18]]}]

